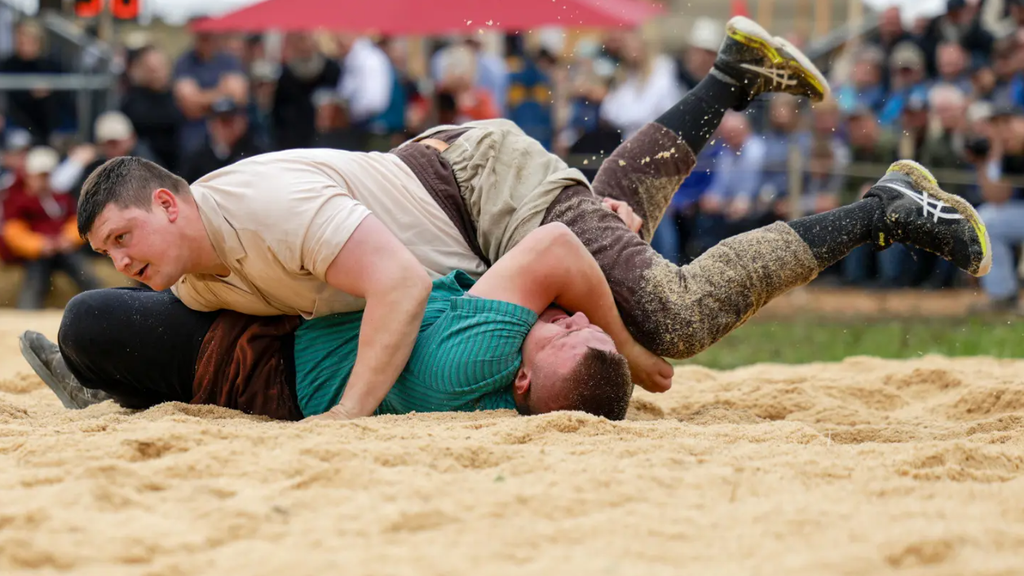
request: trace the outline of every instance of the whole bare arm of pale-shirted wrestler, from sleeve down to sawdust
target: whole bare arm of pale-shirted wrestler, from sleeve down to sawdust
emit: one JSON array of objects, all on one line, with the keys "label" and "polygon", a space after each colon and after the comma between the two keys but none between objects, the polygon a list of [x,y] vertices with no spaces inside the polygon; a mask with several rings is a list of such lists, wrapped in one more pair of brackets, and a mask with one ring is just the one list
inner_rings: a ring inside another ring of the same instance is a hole
[{"label": "whole bare arm of pale-shirted wrestler, from sleeve down to sawdust", "polygon": [[430,295],[423,264],[375,216],[367,216],[327,269],[327,282],[366,298],[355,365],[326,416],[370,416],[409,361]]}]

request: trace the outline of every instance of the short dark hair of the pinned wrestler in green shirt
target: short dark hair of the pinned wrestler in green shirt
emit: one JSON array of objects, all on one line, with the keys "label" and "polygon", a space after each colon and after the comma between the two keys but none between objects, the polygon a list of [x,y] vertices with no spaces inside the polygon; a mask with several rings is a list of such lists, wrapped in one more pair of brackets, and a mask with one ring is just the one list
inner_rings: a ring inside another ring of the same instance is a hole
[{"label": "short dark hair of the pinned wrestler in green shirt", "polygon": [[561,410],[578,410],[609,420],[626,418],[633,396],[633,378],[625,356],[587,348],[568,380],[568,396]]}]

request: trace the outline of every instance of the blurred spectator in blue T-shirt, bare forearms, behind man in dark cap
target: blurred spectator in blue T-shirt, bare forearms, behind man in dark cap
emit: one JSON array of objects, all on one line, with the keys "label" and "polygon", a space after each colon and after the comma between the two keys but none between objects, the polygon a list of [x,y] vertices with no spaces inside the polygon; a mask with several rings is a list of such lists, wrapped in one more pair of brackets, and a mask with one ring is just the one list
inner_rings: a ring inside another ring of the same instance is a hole
[{"label": "blurred spectator in blue T-shirt, bare forearms, behind man in dark cap", "polygon": [[200,33],[196,43],[174,66],[174,97],[184,114],[179,150],[182,154],[203,147],[206,118],[214,102],[232,98],[243,104],[249,97],[249,80],[242,63],[221,50],[215,35]]}]

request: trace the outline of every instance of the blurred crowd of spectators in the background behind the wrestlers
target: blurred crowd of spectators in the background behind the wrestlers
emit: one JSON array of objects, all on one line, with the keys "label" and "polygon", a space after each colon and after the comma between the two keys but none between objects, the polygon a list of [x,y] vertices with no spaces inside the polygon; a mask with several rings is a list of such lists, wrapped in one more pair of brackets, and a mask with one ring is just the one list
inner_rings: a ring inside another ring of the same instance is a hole
[{"label": "blurred crowd of spectators in the background behind the wrestlers", "polygon": [[[1002,0],[995,17],[983,17],[985,5],[950,0],[945,14],[914,23],[891,8],[828,60],[829,100],[775,97],[728,114],[654,246],[685,262],[728,236],[856,201],[889,163],[913,158],[979,206],[995,255],[982,280],[988,307],[1013,308],[1024,243],[1024,0]],[[453,37],[433,42],[420,67],[401,38],[288,34],[271,50],[263,36],[198,35],[175,57],[136,42],[123,48],[119,106],[96,118],[77,118],[68,92],[6,94],[0,256],[26,268],[24,307],[41,305],[55,270],[95,285],[75,204],[91,170],[120,155],[193,181],[263,152],[387,151],[433,125],[504,117],[593,175],[708,74],[723,34],[724,23],[694,18],[674,54],[635,31],[571,42],[508,35],[498,49]],[[0,73],[60,72],[42,29],[19,24]],[[69,137],[81,123],[91,141]],[[823,277],[865,288],[967,282],[901,246],[859,249]]]}]

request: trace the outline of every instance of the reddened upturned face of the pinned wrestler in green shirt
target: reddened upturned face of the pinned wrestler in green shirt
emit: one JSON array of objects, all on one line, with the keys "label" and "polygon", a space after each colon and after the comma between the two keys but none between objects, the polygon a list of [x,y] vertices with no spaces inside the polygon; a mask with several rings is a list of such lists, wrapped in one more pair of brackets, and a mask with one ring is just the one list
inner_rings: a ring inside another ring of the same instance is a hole
[{"label": "reddened upturned face of the pinned wrestler in green shirt", "polygon": [[[522,367],[529,375],[530,413],[550,412],[564,405],[570,393],[568,376],[588,348],[616,352],[611,336],[582,313],[572,316],[557,307],[541,315],[522,344]],[[526,390],[516,386],[516,402],[526,405]]]}]

